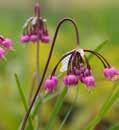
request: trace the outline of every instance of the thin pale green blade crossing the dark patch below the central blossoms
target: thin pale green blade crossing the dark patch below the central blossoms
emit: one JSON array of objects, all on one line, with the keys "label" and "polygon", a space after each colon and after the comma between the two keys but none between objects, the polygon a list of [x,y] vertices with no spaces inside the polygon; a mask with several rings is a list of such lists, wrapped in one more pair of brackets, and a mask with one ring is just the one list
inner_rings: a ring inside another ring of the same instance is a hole
[{"label": "thin pale green blade crossing the dark patch below the central blossoms", "polygon": [[[74,97],[73,103],[76,102],[76,100],[77,100],[77,98],[78,98],[78,94],[79,94],[79,87],[78,87],[78,86],[77,86],[77,89],[76,89],[76,90],[77,90],[77,91],[76,91],[76,95],[75,95],[75,97]],[[68,112],[66,113],[66,115],[65,115],[65,117],[64,117],[64,119],[63,119],[63,121],[62,121],[62,123],[61,123],[61,125],[60,125],[60,127],[59,127],[58,130],[61,130],[61,129],[63,128],[65,122],[67,121],[67,119],[68,119],[68,117],[69,117],[69,115],[70,115],[70,113],[71,113],[71,111],[72,111],[72,109],[73,109],[73,103],[72,103],[72,105],[70,106]]]}]

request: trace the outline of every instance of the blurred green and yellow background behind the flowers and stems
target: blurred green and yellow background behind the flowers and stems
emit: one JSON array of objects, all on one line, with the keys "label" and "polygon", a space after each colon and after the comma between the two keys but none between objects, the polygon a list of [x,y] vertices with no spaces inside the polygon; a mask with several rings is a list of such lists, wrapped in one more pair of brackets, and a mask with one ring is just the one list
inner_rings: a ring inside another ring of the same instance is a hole
[{"label": "blurred green and yellow background behind the flowers and stems", "polygon": [[[14,52],[9,52],[7,62],[0,61],[0,130],[16,130],[25,113],[21,102],[14,73],[20,77],[25,96],[28,97],[33,72],[35,70],[35,45],[20,44],[22,25],[33,15],[33,0],[0,0],[0,34],[11,37],[14,41]],[[58,20],[65,16],[74,18],[80,30],[80,43],[83,48],[96,48],[104,40],[109,42],[101,53],[110,63],[119,68],[119,1],[118,0],[41,0],[42,16],[47,19],[48,29],[53,37]],[[48,55],[50,45],[41,45],[41,72]],[[75,47],[75,33],[72,26],[65,24],[56,43],[56,49],[48,73],[64,52]],[[111,91],[112,82],[104,80],[102,65],[95,58],[91,60],[93,72],[97,79],[96,88],[89,93],[81,85],[79,99],[66,122],[66,130],[78,130],[85,126],[99,111],[103,101]],[[67,108],[72,104],[69,92],[62,111],[56,121],[56,128],[62,120]],[[52,100],[54,101],[54,100]],[[119,102],[119,101],[118,101]],[[119,120],[119,103],[116,102],[110,112],[102,120],[106,130],[108,126]],[[46,106],[46,107],[45,107]],[[45,104],[42,122],[47,122],[47,114],[52,107]],[[106,127],[105,127],[106,126]],[[54,128],[54,130],[56,130]]]}]

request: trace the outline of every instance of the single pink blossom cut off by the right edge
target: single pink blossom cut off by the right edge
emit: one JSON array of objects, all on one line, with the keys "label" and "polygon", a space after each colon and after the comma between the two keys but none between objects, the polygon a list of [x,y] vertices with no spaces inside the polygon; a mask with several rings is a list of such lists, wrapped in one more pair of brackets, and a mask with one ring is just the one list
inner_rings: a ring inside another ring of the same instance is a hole
[{"label": "single pink blossom cut off by the right edge", "polygon": [[105,78],[108,80],[115,80],[119,76],[119,71],[114,67],[105,68],[103,72]]}]

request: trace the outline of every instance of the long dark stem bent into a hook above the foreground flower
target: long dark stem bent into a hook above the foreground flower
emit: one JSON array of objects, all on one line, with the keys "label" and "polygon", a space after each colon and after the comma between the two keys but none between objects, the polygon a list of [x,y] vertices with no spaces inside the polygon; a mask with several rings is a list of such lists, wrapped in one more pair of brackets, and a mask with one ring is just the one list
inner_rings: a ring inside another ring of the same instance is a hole
[{"label": "long dark stem bent into a hook above the foreground flower", "polygon": [[78,28],[77,28],[77,25],[75,23],[75,21],[73,19],[70,19],[70,18],[64,18],[62,19],[58,25],[57,25],[57,28],[56,28],[56,32],[54,34],[54,38],[53,38],[53,41],[52,41],[52,45],[51,45],[51,49],[50,49],[50,52],[49,52],[49,56],[48,56],[48,59],[47,59],[47,62],[46,62],[46,65],[45,65],[45,68],[44,68],[44,71],[43,71],[43,74],[42,74],[42,77],[41,77],[41,80],[40,80],[40,83],[39,83],[39,86],[38,86],[38,89],[33,97],[33,100],[30,104],[30,107],[24,117],[24,120],[23,120],[23,123],[22,123],[22,127],[21,127],[21,130],[24,130],[25,129],[25,126],[26,126],[26,123],[27,123],[27,120],[28,120],[28,117],[29,117],[29,114],[33,108],[33,105],[37,99],[37,96],[39,94],[39,91],[40,91],[40,88],[43,84],[43,81],[44,81],[44,78],[45,78],[45,75],[46,75],[46,72],[47,72],[47,69],[48,69],[48,66],[49,66],[49,63],[50,63],[50,59],[52,57],[52,54],[53,54],[53,50],[54,50],[54,46],[55,46],[55,41],[56,41],[56,38],[57,38],[57,35],[58,35],[58,32],[59,32],[59,29],[60,29],[60,26],[64,23],[64,22],[70,22],[73,24],[74,28],[75,28],[75,31],[76,31],[76,39],[77,39],[77,45],[79,46],[79,32],[78,32]]}]

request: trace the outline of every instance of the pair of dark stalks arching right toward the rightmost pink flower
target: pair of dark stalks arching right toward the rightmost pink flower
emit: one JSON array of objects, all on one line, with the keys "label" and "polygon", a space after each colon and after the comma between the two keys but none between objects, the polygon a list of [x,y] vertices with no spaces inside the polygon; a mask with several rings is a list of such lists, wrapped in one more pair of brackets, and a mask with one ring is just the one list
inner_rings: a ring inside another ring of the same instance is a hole
[{"label": "pair of dark stalks arching right toward the rightmost pink flower", "polygon": [[97,56],[100,61],[103,63],[104,67],[110,67],[110,64],[108,63],[108,61],[99,53],[95,52],[95,51],[92,51],[92,50],[86,50],[84,49],[85,52],[90,52],[92,54],[94,54],[95,56]]}]

